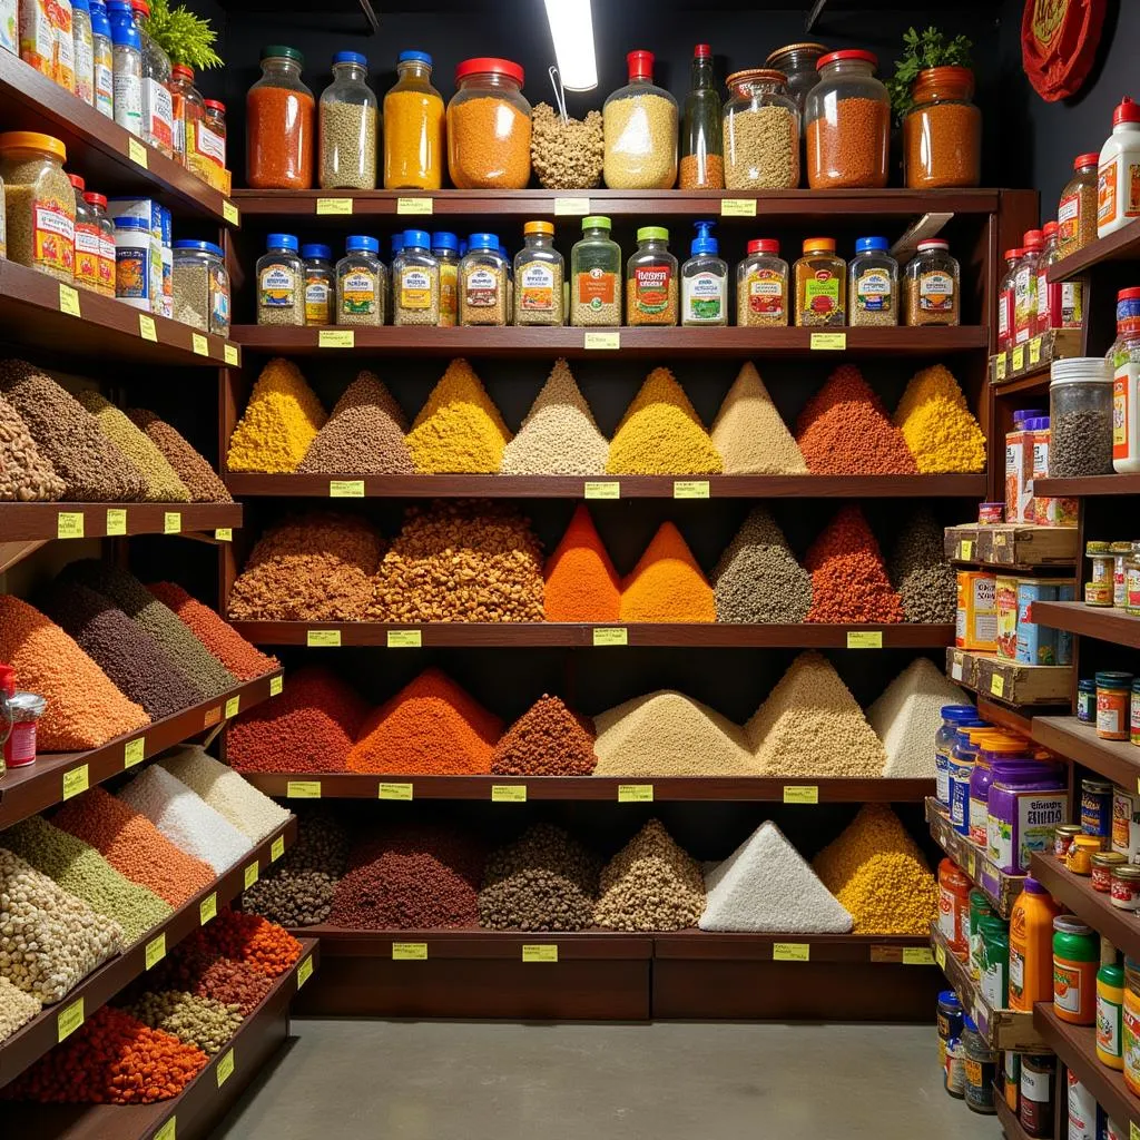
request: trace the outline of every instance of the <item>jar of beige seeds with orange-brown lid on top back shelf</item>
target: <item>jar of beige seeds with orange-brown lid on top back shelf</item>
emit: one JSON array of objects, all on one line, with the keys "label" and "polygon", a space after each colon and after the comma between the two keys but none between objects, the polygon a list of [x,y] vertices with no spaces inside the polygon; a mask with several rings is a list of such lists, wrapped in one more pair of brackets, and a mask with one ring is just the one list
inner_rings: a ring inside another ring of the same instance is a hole
[{"label": "jar of beige seeds with orange-brown lid on top back shelf", "polygon": [[754,68],[727,79],[724,185],[730,190],[799,186],[799,111],[783,72]]}]

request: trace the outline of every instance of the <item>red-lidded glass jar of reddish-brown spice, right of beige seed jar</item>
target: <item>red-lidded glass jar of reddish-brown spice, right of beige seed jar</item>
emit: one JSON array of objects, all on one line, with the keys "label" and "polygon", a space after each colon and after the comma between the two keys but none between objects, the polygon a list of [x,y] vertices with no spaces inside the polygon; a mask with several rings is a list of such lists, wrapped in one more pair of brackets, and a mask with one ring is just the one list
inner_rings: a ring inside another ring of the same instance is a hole
[{"label": "red-lidded glass jar of reddish-brown spice, right of beige seed jar", "polygon": [[890,98],[870,51],[832,51],[807,97],[807,181],[813,190],[887,185]]}]

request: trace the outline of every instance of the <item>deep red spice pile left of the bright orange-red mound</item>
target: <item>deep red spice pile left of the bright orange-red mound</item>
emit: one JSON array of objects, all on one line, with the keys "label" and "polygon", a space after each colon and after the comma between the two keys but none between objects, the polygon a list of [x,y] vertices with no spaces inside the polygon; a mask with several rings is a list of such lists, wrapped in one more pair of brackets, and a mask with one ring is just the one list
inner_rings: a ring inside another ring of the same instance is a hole
[{"label": "deep red spice pile left of the bright orange-red mound", "polygon": [[321,666],[291,673],[280,697],[229,727],[226,758],[238,772],[343,772],[368,705]]}]

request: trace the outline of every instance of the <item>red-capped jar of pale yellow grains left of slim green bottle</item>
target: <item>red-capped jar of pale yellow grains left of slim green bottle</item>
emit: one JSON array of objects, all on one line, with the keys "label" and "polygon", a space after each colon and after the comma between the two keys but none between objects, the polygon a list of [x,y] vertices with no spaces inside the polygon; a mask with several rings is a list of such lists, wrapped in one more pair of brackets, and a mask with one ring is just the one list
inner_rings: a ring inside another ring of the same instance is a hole
[{"label": "red-capped jar of pale yellow grains left of slim green bottle", "polygon": [[603,174],[611,190],[668,190],[677,181],[677,100],[653,83],[653,52],[626,56],[629,82],[602,106]]}]

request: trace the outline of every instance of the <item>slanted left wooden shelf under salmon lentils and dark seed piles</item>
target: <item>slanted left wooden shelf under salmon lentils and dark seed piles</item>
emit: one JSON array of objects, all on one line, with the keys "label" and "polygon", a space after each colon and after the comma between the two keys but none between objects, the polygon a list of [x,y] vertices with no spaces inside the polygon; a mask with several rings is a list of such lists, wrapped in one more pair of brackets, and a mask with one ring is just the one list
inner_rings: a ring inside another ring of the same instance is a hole
[{"label": "slanted left wooden shelf under salmon lentils and dark seed piles", "polygon": [[[279,685],[280,677],[280,669],[267,673],[209,701],[155,720],[139,732],[115,736],[100,748],[85,752],[41,752],[34,764],[8,768],[0,776],[0,829],[62,803],[64,784],[73,772],[85,767],[88,785],[95,787],[174,744],[207,732],[221,724],[227,712],[236,716],[238,710],[244,711],[268,700]],[[231,707],[231,701],[237,705]],[[140,755],[137,741],[142,742]],[[82,777],[78,779],[82,783]]]}]

